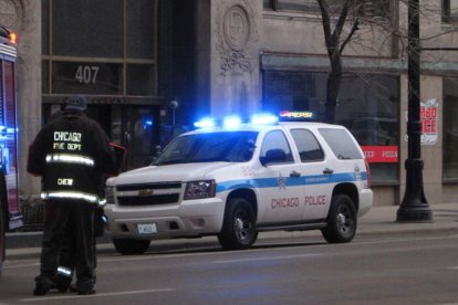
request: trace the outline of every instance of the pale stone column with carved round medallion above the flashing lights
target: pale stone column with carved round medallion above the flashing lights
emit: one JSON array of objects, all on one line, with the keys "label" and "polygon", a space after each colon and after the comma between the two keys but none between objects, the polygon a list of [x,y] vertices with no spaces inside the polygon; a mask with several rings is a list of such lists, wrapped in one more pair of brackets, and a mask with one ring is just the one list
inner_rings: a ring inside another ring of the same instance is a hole
[{"label": "pale stone column with carved round medallion above the flashing lights", "polygon": [[212,0],[210,108],[221,117],[260,107],[262,1]]}]

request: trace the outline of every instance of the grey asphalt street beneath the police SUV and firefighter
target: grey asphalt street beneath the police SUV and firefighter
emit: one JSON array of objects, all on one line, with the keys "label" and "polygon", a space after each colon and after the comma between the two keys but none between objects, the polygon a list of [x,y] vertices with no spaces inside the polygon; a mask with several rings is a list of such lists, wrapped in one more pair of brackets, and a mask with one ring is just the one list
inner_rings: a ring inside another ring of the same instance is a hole
[{"label": "grey asphalt street beneath the police SUV and firefighter", "polygon": [[208,238],[143,255],[101,244],[97,294],[89,296],[33,296],[33,251],[6,261],[0,304],[458,304],[457,251],[457,232],[445,230],[365,232],[345,244],[315,232],[261,234],[244,251]]}]

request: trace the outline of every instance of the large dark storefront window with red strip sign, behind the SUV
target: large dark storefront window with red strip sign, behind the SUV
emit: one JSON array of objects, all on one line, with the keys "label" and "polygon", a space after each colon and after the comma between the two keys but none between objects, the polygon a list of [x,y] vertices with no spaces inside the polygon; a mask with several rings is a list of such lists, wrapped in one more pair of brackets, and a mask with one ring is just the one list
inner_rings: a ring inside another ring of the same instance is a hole
[{"label": "large dark storefront window with red strip sign, behind the SUV", "polygon": [[[264,71],[263,111],[313,111],[324,117],[326,73]],[[345,74],[335,123],[346,126],[362,146],[374,185],[398,183],[399,77]]]}]

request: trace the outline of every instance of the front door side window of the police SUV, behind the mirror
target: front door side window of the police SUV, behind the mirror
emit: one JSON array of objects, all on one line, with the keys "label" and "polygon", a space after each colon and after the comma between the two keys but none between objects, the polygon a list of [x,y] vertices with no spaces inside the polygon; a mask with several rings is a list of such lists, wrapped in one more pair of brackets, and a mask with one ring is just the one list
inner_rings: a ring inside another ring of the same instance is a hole
[{"label": "front door side window of the police SUV, behind the mirror", "polygon": [[266,135],[259,157],[262,164],[293,161],[290,145],[282,130],[272,130]]}]

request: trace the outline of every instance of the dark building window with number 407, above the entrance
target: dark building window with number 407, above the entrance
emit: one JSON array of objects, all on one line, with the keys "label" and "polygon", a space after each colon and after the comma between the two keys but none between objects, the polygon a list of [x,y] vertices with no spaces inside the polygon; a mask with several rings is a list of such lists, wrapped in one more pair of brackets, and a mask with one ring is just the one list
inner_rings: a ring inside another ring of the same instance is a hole
[{"label": "dark building window with number 407, above the entrance", "polygon": [[43,103],[157,99],[157,0],[43,0],[42,15]]}]

